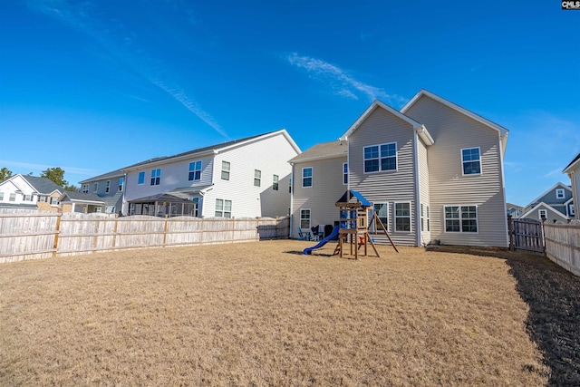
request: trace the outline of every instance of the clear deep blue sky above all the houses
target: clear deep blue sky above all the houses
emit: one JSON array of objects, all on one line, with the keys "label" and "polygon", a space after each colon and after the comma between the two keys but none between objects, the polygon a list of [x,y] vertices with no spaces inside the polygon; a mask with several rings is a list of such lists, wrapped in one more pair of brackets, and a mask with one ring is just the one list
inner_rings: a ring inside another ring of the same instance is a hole
[{"label": "clear deep blue sky above all the houses", "polygon": [[506,127],[507,201],[580,151],[580,11],[559,1],[0,4],[0,168],[82,179],[285,128],[335,140],[421,88]]}]

